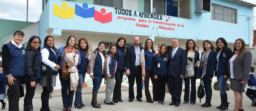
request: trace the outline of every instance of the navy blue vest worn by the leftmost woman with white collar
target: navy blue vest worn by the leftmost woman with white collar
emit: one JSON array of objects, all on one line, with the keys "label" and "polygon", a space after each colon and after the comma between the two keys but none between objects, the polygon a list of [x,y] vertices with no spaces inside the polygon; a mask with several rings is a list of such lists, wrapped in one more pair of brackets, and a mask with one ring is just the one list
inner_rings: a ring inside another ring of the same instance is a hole
[{"label": "navy blue vest worn by the leftmost woman with white collar", "polygon": [[9,48],[10,53],[10,70],[13,77],[25,76],[25,55],[24,47],[20,49],[13,45],[11,41],[5,44]]}]

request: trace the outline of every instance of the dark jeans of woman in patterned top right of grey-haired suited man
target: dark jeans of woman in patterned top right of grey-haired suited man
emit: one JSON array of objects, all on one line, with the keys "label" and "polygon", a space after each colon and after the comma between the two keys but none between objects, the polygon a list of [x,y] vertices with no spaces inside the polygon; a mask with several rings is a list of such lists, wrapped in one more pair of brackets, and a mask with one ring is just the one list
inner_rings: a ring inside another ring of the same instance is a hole
[{"label": "dark jeans of woman in patterned top right of grey-haired suited man", "polygon": [[198,71],[195,70],[195,75],[193,77],[184,78],[185,81],[185,94],[184,101],[189,102],[189,79],[191,80],[191,91],[190,91],[190,102],[196,103],[197,91],[196,91],[196,80]]}]

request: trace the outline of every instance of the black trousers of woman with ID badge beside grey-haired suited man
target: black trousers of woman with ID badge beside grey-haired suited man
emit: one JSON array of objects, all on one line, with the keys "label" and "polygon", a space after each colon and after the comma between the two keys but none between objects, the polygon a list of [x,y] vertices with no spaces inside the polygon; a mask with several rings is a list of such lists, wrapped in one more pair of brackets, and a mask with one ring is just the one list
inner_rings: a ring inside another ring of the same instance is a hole
[{"label": "black trousers of woman with ID badge beside grey-haired suited man", "polygon": [[164,100],[167,80],[168,76],[157,76],[157,94],[159,100]]}]

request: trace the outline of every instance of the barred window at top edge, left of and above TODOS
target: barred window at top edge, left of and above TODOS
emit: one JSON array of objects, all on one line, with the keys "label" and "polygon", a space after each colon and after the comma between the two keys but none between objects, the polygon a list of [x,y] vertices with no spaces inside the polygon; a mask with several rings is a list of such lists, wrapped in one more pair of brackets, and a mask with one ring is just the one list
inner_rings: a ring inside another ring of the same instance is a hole
[{"label": "barred window at top edge, left of and above TODOS", "polygon": [[123,1],[120,0],[94,0],[93,4],[107,7],[122,8]]}]

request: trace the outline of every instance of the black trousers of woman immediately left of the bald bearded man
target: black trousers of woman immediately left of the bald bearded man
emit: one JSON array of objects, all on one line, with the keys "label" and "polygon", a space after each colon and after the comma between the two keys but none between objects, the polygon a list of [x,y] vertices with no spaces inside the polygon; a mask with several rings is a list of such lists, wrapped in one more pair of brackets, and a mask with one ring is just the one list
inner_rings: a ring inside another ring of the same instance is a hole
[{"label": "black trousers of woman immediately left of the bald bearded man", "polygon": [[122,80],[123,80],[123,73],[124,70],[116,70],[116,74],[115,74],[115,88],[114,88],[114,92],[113,92],[113,101],[117,101],[118,99],[121,99],[121,84],[122,84]]}]

